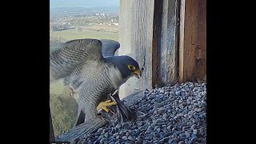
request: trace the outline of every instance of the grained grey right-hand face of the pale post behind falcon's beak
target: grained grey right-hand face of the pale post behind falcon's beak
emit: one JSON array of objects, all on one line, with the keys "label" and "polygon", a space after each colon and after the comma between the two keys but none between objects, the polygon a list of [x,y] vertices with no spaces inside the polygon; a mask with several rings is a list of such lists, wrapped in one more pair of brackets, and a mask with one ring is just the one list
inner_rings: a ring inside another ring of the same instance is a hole
[{"label": "grained grey right-hand face of the pale post behind falcon's beak", "polygon": [[152,88],[154,81],[154,53],[153,41],[153,16],[154,0],[140,0],[134,2],[132,14],[132,41],[131,49],[138,64],[144,68],[142,78],[138,81],[139,90]]}]

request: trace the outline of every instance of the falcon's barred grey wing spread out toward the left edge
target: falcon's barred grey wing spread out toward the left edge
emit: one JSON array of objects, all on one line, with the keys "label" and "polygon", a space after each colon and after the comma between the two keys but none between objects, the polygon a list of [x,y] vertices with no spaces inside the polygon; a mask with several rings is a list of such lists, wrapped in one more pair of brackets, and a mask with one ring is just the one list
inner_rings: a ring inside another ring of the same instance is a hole
[{"label": "falcon's barred grey wing spread out toward the left edge", "polygon": [[76,39],[66,42],[50,54],[50,82],[66,78],[88,60],[102,62],[102,42],[97,39]]}]

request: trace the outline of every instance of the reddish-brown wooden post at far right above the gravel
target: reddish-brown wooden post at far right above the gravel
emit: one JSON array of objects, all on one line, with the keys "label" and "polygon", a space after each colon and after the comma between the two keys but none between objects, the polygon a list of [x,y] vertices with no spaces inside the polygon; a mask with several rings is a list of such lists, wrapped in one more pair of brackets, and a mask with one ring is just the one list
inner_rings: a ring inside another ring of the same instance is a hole
[{"label": "reddish-brown wooden post at far right above the gravel", "polygon": [[206,78],[206,0],[182,0],[179,46],[180,82]]}]

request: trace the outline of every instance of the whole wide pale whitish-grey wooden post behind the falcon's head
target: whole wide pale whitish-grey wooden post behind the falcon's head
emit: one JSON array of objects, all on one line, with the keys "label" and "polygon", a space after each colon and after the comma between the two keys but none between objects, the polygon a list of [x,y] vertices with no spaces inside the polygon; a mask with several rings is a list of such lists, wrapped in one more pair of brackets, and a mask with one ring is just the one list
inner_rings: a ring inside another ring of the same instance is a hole
[{"label": "whole wide pale whitish-grey wooden post behind the falcon's head", "polygon": [[130,55],[144,68],[142,78],[130,78],[120,87],[121,98],[153,86],[153,17],[154,0],[120,1],[118,54]]}]

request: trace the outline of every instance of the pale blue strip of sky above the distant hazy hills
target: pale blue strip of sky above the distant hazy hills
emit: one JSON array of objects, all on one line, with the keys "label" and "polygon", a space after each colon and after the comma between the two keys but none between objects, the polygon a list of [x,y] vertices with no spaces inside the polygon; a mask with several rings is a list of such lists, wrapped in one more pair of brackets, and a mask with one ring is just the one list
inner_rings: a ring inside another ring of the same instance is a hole
[{"label": "pale blue strip of sky above the distant hazy hills", "polygon": [[61,6],[119,6],[119,0],[50,0],[50,8]]}]

